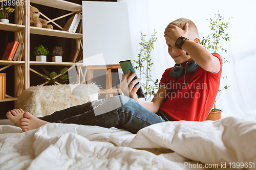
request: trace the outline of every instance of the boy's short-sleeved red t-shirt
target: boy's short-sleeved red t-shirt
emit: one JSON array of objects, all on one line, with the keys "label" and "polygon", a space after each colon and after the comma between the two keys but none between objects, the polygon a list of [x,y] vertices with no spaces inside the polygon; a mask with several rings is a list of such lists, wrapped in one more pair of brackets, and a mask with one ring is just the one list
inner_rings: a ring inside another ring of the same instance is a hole
[{"label": "boy's short-sleeved red t-shirt", "polygon": [[[170,119],[202,122],[207,118],[218,93],[222,71],[220,55],[217,53],[212,55],[220,60],[221,68],[216,73],[206,71],[199,66],[193,74],[185,72],[176,80],[169,74],[173,67],[164,71],[159,87],[168,88],[169,91],[160,110]],[[186,62],[181,65],[185,67]]]}]

